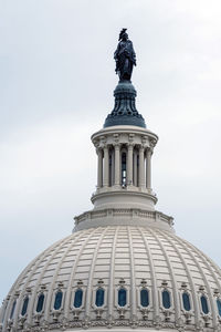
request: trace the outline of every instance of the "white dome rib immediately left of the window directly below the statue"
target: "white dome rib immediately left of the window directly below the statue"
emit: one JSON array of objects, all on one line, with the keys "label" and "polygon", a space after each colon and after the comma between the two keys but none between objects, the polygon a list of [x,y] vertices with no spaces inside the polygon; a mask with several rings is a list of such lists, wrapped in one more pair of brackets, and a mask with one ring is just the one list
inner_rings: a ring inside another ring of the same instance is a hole
[{"label": "white dome rib immediately left of the window directly below the statue", "polygon": [[116,227],[114,239],[113,239],[113,250],[112,250],[112,260],[109,267],[109,291],[108,291],[108,320],[113,320],[113,309],[114,309],[114,289],[115,289],[115,255],[116,255],[116,241],[119,231],[119,226]]}]

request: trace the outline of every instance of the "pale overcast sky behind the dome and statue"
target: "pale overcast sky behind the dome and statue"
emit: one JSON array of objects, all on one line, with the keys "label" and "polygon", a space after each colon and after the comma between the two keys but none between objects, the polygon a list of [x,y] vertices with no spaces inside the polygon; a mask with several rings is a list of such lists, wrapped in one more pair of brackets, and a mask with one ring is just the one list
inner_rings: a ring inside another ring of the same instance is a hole
[{"label": "pale overcast sky behind the dome and statue", "polygon": [[122,28],[159,135],[157,209],[221,266],[221,1],[0,0],[0,301],[92,208],[91,135],[112,111]]}]

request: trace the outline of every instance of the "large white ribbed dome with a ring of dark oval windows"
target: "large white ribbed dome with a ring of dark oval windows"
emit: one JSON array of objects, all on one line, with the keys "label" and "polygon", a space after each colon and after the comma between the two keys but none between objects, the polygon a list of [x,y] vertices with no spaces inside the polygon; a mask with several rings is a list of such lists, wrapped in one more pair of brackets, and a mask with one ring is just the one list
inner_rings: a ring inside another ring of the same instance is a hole
[{"label": "large white ribbed dome with a ring of dark oval windows", "polygon": [[172,232],[139,226],[91,228],[54,243],[28,266],[2,307],[2,330],[182,331],[186,325],[186,331],[220,331],[220,269]]}]

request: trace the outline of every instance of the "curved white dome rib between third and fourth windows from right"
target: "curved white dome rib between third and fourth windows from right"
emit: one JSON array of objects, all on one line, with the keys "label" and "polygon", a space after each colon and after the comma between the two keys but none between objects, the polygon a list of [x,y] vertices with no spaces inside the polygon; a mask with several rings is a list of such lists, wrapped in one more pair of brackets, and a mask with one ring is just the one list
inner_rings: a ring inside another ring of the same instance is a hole
[{"label": "curved white dome rib between third and fourth windows from right", "polygon": [[172,298],[173,298],[173,312],[175,312],[175,320],[178,321],[178,319],[180,318],[180,305],[179,305],[179,301],[178,301],[178,293],[177,293],[177,282],[176,282],[176,278],[175,278],[175,273],[172,270],[172,266],[169,259],[169,256],[165,249],[165,247],[161,243],[161,240],[158,238],[158,235],[160,235],[160,232],[156,231],[156,235],[154,231],[151,231],[151,229],[149,229],[151,236],[156,239],[156,241],[159,245],[159,248],[161,249],[161,251],[165,255],[166,261],[167,261],[167,267],[169,269],[170,272],[170,277],[171,277],[171,284],[172,284]]}]

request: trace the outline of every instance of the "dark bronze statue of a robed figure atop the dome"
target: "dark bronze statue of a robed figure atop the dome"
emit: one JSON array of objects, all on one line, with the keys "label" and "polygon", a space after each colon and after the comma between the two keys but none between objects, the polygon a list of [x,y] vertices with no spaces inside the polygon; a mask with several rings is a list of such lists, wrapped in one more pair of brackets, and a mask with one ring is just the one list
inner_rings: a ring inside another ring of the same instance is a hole
[{"label": "dark bronze statue of a robed figure atop the dome", "polygon": [[130,81],[133,66],[136,65],[136,54],[133,42],[128,39],[127,29],[122,29],[119,33],[119,42],[114,53],[116,61],[116,73],[120,81]]}]

